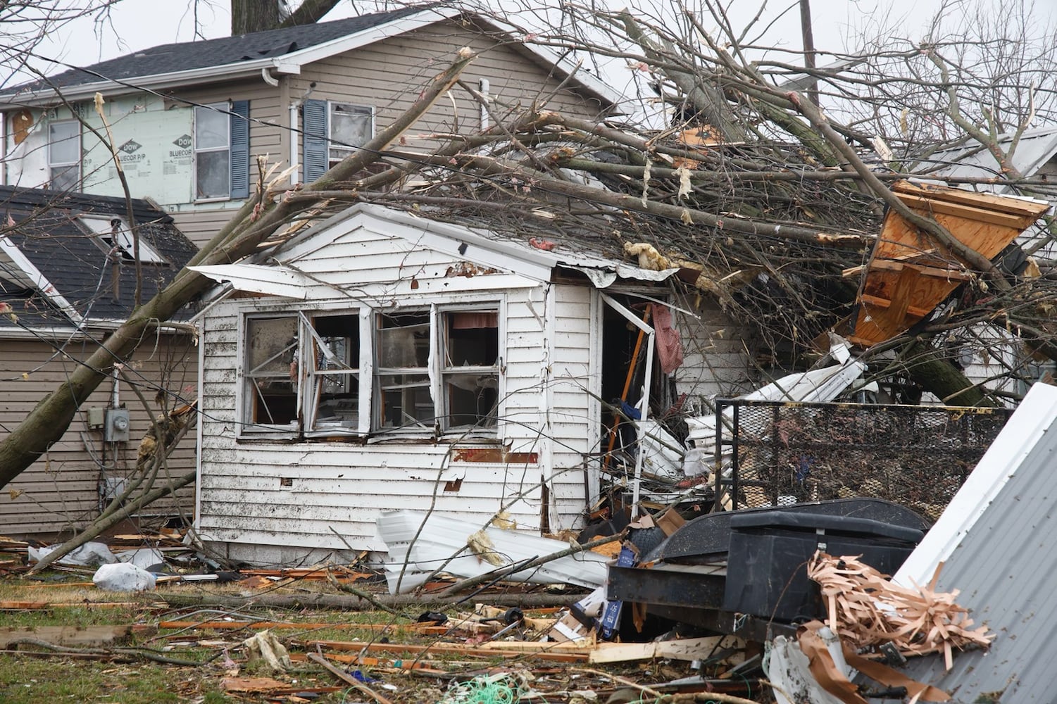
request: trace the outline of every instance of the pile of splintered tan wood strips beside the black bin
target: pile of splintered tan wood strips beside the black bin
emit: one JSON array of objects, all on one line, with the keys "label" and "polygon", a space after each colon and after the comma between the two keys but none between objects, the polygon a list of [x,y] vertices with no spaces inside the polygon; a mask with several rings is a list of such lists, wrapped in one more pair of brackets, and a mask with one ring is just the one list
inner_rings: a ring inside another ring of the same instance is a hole
[{"label": "pile of splintered tan wood strips beside the black bin", "polygon": [[872,651],[891,643],[904,656],[942,652],[949,670],[953,648],[986,648],[995,635],[986,626],[972,628],[968,612],[954,603],[958,590],[935,591],[942,568],[927,587],[908,589],[857,557],[819,551],[808,563],[808,576],[821,587],[827,625],[846,645]]}]

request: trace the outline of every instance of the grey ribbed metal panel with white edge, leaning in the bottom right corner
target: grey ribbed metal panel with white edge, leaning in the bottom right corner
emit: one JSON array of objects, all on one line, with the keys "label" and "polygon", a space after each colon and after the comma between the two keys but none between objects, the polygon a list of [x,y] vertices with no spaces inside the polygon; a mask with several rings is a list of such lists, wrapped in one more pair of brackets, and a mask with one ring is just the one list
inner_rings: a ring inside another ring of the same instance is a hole
[{"label": "grey ribbed metal panel with white edge, leaning in the bottom right corner", "polygon": [[[1057,631],[1057,388],[1036,384],[893,580],[927,583],[998,637],[988,650],[912,657],[905,673],[954,702],[1052,702]],[[902,701],[902,700],[901,700]]]}]

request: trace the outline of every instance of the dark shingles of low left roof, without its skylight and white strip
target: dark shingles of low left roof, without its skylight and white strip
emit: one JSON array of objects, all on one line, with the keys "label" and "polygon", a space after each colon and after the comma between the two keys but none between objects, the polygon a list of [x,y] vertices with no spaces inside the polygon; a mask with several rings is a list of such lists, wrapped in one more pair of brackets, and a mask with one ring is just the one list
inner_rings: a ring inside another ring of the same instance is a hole
[{"label": "dark shingles of low left roof, without its skylight and white strip", "polygon": [[[132,214],[141,241],[166,261],[141,266],[142,300],[146,301],[172,280],[198,248],[177,228],[172,218],[147,201],[133,200]],[[80,315],[90,320],[123,320],[134,303],[135,262],[120,261],[115,297],[114,259],[108,259],[106,245],[78,224],[78,215],[119,216],[127,220],[128,210],[120,198],[0,186],[4,236]],[[25,291],[18,282],[0,280],[0,300],[12,305],[23,325],[70,323],[41,292]],[[188,315],[189,311],[180,317]]]}]

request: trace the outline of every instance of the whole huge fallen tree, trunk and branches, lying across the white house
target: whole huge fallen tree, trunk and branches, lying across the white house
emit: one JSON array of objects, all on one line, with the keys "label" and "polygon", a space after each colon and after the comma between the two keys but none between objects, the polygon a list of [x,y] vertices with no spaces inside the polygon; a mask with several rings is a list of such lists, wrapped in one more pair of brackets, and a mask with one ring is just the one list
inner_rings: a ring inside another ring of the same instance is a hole
[{"label": "whole huge fallen tree, trunk and branches, lying across the white house", "polygon": [[[1019,135],[1033,121],[1052,117],[1052,45],[1026,35],[945,38],[937,24],[924,44],[864,44],[838,57],[838,68],[805,72],[802,55],[794,53],[787,62],[774,60],[773,53],[760,58],[746,39],[750,32],[736,30],[718,5],[705,3],[698,13],[665,10],[667,15],[654,18],[563,3],[561,21],[552,23],[558,29],[522,30],[526,41],[630,66],[645,90],[669,107],[664,124],[630,115],[624,124],[598,123],[548,111],[543,104],[514,111],[480,96],[497,123],[486,132],[446,135],[446,146],[428,155],[393,147],[453,85],[466,60],[460,59],[415,109],[320,181],[296,192],[262,182],[259,198],[191,263],[249,254],[283,222],[323,201],[428,209],[440,219],[526,237],[545,234],[617,256],[625,256],[625,244],[645,244],[666,261],[697,268],[700,294],[744,321],[766,356],[793,366],[804,364],[812,340],[851,312],[858,281],[842,273],[867,261],[885,208],[941,242],[951,241],[950,233],[910,212],[888,187],[908,173],[929,172],[929,153],[975,142],[998,156],[1001,171],[953,183],[1001,182],[1014,192],[1053,196],[1045,179],[1014,167]],[[987,59],[987,52],[1006,60]],[[999,67],[1000,75],[983,70],[989,67]],[[813,91],[817,87],[824,112],[800,91],[805,79]],[[1002,132],[1014,136],[1002,140]],[[357,178],[378,160],[390,168]],[[255,211],[257,203],[262,209]],[[1053,235],[1052,220],[1040,224],[1033,235],[1039,252]],[[1053,272],[1040,260],[1040,275],[1025,277],[965,254],[971,280],[957,301],[865,356],[879,378],[909,376],[953,403],[994,403],[952,364],[951,340],[975,334],[983,337],[981,349],[1024,344],[1057,359]],[[181,272],[43,399],[0,443],[0,484],[62,434],[78,404],[115,360],[135,349],[145,330],[206,286],[201,276]],[[998,336],[978,332],[996,323]],[[1015,356],[1018,362],[1002,374],[1030,378],[1030,356]]]}]

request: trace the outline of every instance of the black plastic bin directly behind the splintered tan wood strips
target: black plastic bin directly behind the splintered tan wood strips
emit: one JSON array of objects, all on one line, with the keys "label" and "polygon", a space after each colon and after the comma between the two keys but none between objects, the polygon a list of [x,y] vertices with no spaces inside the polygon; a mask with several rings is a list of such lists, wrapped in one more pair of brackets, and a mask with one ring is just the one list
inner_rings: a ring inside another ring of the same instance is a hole
[{"label": "black plastic bin directly behind the splintered tan wood strips", "polygon": [[894,573],[924,533],[865,518],[790,512],[755,513],[730,520],[724,611],[792,622],[826,615],[818,585],[808,577],[816,550],[861,555]]}]

